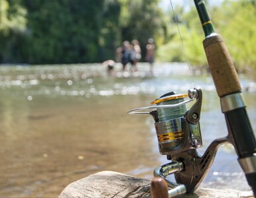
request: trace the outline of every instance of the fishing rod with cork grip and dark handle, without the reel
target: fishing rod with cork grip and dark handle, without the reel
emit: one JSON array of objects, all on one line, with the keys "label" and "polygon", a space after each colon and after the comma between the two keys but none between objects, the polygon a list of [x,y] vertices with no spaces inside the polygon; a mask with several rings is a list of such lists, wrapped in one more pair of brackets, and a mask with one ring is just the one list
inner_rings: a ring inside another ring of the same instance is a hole
[{"label": "fishing rod with cork grip and dark handle, without the reel", "polygon": [[203,44],[214,84],[225,115],[229,142],[256,197],[256,141],[247,116],[239,77],[220,34],[216,34],[204,1],[194,0],[206,36]]}]

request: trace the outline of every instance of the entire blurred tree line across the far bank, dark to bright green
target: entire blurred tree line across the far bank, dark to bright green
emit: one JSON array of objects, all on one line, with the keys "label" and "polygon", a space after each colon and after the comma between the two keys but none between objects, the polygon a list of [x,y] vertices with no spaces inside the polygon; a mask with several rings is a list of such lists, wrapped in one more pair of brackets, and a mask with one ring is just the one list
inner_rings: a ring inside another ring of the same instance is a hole
[{"label": "entire blurred tree line across the far bank, dark to bright green", "polygon": [[[255,0],[210,1],[208,10],[239,71],[255,70]],[[154,38],[158,61],[186,61],[176,17],[192,65],[205,66],[204,34],[193,1],[1,0],[0,63],[99,63],[115,59],[124,40],[139,40],[142,61]]]}]

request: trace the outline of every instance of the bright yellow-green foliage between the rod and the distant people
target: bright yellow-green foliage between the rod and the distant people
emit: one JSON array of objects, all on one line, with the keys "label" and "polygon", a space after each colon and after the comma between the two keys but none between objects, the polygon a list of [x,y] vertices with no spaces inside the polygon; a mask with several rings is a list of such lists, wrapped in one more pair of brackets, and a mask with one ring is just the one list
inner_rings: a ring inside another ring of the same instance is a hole
[{"label": "bright yellow-green foliage between the rod and the distant people", "polygon": [[[169,13],[168,34],[169,40],[160,46],[157,51],[159,61],[186,61],[186,57],[192,65],[206,65],[206,57],[202,40],[204,35],[196,9],[184,11],[182,7],[174,8],[174,13]],[[179,27],[177,28],[177,24]],[[180,39],[180,35],[181,39]],[[183,44],[182,44],[183,43]],[[184,46],[184,47],[183,47]]]}]

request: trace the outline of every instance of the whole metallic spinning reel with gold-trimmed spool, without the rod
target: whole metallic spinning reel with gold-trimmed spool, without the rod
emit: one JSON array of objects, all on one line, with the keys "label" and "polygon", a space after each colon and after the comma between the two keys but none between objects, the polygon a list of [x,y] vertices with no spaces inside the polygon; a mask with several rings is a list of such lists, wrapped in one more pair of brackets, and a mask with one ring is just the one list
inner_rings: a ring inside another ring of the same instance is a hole
[{"label": "whole metallic spinning reel with gold-trimmed spool, without the rod", "polygon": [[[189,98],[184,100],[184,98]],[[186,103],[196,100],[190,110]],[[196,149],[202,147],[200,131],[200,111],[202,106],[202,90],[194,88],[188,94],[181,95],[169,92],[151,102],[152,106],[131,110],[129,114],[149,114],[155,120],[155,129],[159,142],[160,154],[166,155],[170,163],[155,168],[154,176],[164,178],[169,187],[169,197],[195,191],[204,180],[218,147],[231,142],[231,134],[213,141],[203,156]],[[142,112],[148,109],[151,112]],[[174,174],[176,182],[168,176]]]}]

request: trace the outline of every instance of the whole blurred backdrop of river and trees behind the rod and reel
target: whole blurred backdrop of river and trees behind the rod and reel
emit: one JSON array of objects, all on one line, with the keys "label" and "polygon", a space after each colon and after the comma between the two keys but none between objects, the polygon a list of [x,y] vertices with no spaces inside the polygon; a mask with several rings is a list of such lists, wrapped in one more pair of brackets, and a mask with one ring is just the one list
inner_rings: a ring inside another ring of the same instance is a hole
[{"label": "whole blurred backdrop of river and trees behind the rod and reel", "polygon": [[[203,90],[200,152],[227,134],[193,1],[172,3],[175,13],[168,0],[0,0],[0,197],[58,197],[102,170],[151,179],[167,162],[154,121],[127,111],[171,90]],[[206,3],[256,131],[256,1]],[[124,73],[116,49],[135,39],[141,59]],[[117,62],[114,75],[102,65],[107,59]],[[236,158],[231,145],[221,147],[202,186],[249,190]]]}]

